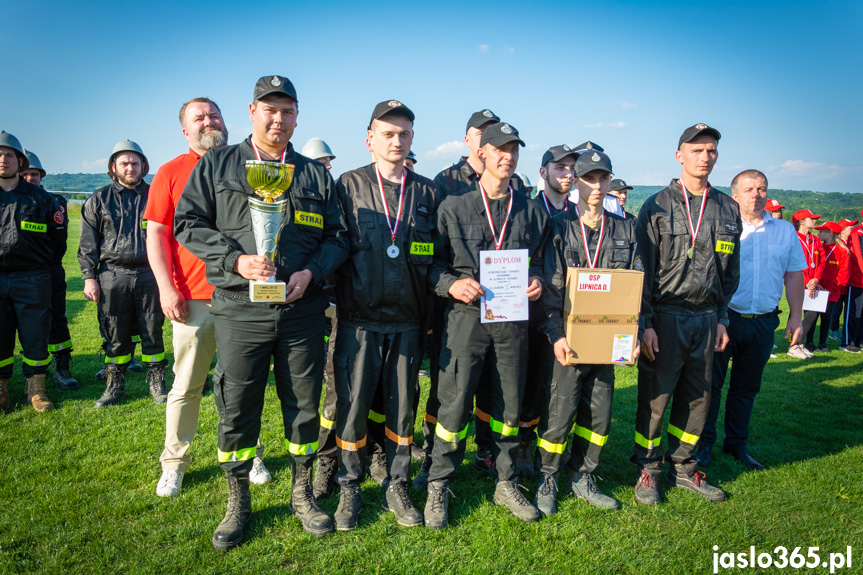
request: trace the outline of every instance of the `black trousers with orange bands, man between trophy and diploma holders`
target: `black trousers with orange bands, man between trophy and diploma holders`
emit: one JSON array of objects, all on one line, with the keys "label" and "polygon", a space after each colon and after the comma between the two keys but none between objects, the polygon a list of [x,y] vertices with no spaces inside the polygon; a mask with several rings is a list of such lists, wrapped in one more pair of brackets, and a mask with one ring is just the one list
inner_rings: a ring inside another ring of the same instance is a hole
[{"label": "black trousers with orange bands, man between trophy and diploma holders", "polygon": [[410,479],[414,394],[422,362],[419,329],[380,333],[339,327],[333,368],[336,380],[336,443],[341,450],[339,484],[364,475],[369,410],[376,396],[385,404],[387,474],[393,482]]}]

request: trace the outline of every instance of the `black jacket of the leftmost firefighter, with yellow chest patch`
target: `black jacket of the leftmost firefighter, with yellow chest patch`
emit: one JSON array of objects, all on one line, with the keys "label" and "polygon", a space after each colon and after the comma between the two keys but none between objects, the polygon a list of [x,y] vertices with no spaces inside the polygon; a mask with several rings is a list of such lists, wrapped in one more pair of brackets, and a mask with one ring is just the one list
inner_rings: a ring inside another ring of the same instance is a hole
[{"label": "black jacket of the leftmost firefighter, with yellow chest patch", "polygon": [[66,245],[65,213],[54,198],[20,178],[0,190],[0,272],[47,271]]}]

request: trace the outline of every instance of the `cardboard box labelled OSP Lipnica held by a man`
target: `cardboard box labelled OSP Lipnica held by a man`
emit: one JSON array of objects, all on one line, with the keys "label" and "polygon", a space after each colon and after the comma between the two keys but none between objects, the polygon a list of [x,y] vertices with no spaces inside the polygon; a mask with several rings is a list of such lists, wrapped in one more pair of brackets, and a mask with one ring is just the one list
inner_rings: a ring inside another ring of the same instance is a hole
[{"label": "cardboard box labelled OSP Lipnica held by a man", "polygon": [[581,363],[632,365],[644,272],[569,268],[563,317],[566,341]]}]

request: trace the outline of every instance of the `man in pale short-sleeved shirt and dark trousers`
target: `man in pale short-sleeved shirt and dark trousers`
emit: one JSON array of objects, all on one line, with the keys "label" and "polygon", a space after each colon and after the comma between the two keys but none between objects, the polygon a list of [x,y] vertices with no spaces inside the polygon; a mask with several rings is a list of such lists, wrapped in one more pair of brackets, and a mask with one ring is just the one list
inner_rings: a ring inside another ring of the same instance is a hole
[{"label": "man in pale short-sleeved shirt and dark trousers", "polygon": [[764,366],[773,349],[773,332],[779,326],[777,304],[782,286],[791,308],[785,337],[791,345],[802,338],[803,270],[806,259],[794,226],[765,211],[767,177],[758,170],[745,170],[731,182],[731,197],[740,206],[743,230],[740,236],[740,284],[728,305],[728,336],[724,352],[713,355],[713,390],[710,410],[698,442],[695,459],[709,465],[716,441],[716,419],[722,400],[722,385],[733,358],[731,379],[725,397],[725,441],[722,451],[750,469],[764,469],[746,448],[749,419],[755,395],[761,389]]}]

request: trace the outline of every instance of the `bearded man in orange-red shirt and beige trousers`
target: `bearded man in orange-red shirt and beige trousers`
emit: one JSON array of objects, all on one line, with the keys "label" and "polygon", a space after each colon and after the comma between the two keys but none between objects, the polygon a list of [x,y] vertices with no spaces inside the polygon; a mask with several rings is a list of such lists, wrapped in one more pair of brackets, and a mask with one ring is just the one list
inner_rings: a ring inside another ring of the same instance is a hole
[{"label": "bearded man in orange-red shirt and beige trousers", "polygon": [[[180,108],[183,136],[189,151],[159,168],[150,186],[144,219],[148,220],[147,257],[159,284],[162,311],[174,328],[174,385],[165,410],[165,450],[159,458],[162,477],[159,497],[180,493],[183,474],[191,463],[189,444],[198,427],[201,396],[216,353],[216,336],[204,262],[177,243],[174,209],[186,187],[192,168],[208,150],[228,143],[228,130],[219,106],[209,98],[193,98]],[[261,459],[258,442],[250,478],[254,483],[271,479]]]}]

